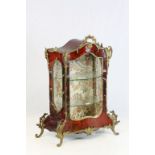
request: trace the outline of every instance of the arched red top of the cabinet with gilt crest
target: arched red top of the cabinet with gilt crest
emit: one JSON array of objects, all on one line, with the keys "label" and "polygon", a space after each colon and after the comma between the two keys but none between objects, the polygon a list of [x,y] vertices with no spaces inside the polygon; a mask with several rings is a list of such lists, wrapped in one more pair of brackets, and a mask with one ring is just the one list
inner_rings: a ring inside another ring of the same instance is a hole
[{"label": "arched red top of the cabinet with gilt crest", "polygon": [[112,54],[112,48],[104,48],[102,44],[96,42],[95,37],[89,35],[83,40],[72,39],[60,48],[46,49],[46,58],[49,62],[58,59],[63,63],[64,53],[68,55],[68,61],[75,60],[86,53],[91,53],[96,57],[109,59],[109,55]]}]

